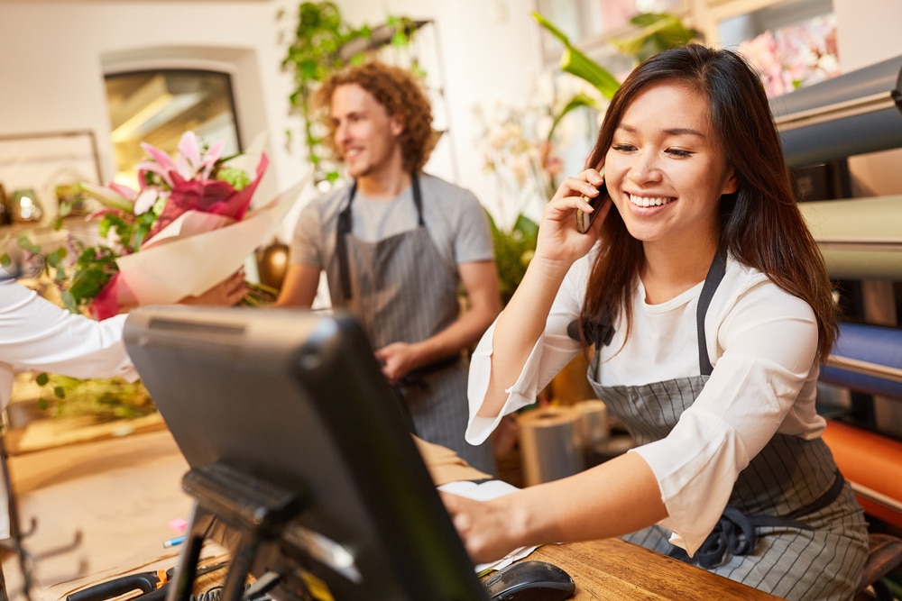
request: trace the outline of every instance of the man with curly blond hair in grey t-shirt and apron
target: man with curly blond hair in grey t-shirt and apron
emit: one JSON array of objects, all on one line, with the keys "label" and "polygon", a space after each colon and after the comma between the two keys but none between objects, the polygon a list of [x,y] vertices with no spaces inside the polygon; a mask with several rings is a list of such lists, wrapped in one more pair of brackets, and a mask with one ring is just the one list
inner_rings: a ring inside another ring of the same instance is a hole
[{"label": "man with curly blond hair in grey t-shirt and apron", "polygon": [[494,474],[491,447],[464,441],[463,351],[501,310],[488,217],[472,192],[423,172],[436,136],[409,71],[347,68],[315,101],[351,181],[299,215],[276,305],[311,306],[325,271],[332,305],[363,325],[411,431]]}]

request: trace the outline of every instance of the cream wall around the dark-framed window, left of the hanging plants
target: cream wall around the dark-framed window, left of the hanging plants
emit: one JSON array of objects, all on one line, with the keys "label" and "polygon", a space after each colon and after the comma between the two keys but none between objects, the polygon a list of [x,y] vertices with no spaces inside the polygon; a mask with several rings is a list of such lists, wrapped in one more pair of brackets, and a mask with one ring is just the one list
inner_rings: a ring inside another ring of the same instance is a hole
[{"label": "cream wall around the dark-framed window, left of the hanging plants", "polygon": [[299,154],[283,149],[281,139],[299,129],[279,68],[276,12],[284,4],[2,0],[0,135],[93,130],[109,178],[105,68],[139,67],[144,59],[225,68],[233,73],[244,144],[270,133],[272,168],[261,197],[272,196],[299,178]]}]

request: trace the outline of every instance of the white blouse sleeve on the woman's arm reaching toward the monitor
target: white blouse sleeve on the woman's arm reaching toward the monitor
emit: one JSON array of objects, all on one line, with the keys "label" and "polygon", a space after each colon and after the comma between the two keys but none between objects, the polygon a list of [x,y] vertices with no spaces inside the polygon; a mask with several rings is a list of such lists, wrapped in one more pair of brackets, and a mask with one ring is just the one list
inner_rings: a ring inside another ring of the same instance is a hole
[{"label": "white blouse sleeve on the woman's arm reaching toward the monitor", "polygon": [[667,438],[633,451],[658,478],[668,514],[661,525],[690,555],[717,523],[741,470],[780,430],[803,387],[814,387],[817,376],[814,313],[778,287],[747,293],[717,323],[723,352],[695,403]]}]

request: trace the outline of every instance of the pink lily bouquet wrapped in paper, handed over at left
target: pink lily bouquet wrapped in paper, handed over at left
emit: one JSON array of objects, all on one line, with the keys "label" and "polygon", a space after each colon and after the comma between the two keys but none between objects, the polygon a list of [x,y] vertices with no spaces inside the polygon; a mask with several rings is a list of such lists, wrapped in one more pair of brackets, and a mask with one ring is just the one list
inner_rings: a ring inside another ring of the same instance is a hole
[{"label": "pink lily bouquet wrapped in paper, handed over at left", "polygon": [[[262,151],[225,158],[223,147],[223,142],[207,146],[194,132],[183,134],[175,157],[143,143],[148,158],[138,165],[137,190],[115,182],[103,187],[81,184],[101,205],[88,219],[98,221],[102,241],[87,246],[69,237],[66,247],[47,256],[63,305],[105,319],[122,306],[174,303],[200,294],[240,269],[240,262],[226,265],[231,271],[221,274],[196,269],[188,287],[179,286],[184,278],[176,275],[190,260],[190,253],[179,252],[177,242],[207,242],[204,236],[242,221],[266,171],[268,159]],[[255,168],[249,160],[256,162]],[[62,207],[60,216],[65,214]],[[244,256],[259,241],[252,240]],[[216,248],[201,254],[218,258]],[[154,274],[149,260],[175,271]]]}]

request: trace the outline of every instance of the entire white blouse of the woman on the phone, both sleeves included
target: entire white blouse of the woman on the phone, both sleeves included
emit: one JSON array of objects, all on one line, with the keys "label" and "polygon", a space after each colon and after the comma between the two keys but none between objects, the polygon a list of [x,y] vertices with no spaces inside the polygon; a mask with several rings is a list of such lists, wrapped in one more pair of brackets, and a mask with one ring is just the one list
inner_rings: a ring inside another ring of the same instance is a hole
[{"label": "entire white blouse of the woman on the phone, both sleeves included", "polygon": [[[502,415],[534,403],[557,371],[582,352],[566,328],[579,315],[588,273],[588,256],[570,269],[545,332],[519,378],[511,376],[510,396],[496,418],[476,415],[488,387],[494,324],[485,332],[470,366],[468,442],[483,442]],[[698,376],[695,307],[701,290],[698,284],[649,305],[640,283],[630,338],[624,343],[626,327],[617,323],[595,378],[610,387]],[[817,325],[809,305],[730,258],[704,331],[713,365],[704,389],[667,438],[633,450],[658,479],[668,514],[660,524],[690,554],[720,518],[740,471],[775,433],[810,439],[824,430],[824,419],[815,413]]]}]

